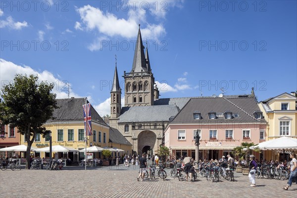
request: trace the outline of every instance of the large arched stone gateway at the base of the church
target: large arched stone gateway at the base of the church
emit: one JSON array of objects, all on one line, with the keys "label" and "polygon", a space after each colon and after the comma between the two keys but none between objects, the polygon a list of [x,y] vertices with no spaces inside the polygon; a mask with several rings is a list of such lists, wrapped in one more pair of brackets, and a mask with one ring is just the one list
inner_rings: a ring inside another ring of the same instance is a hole
[{"label": "large arched stone gateway at the base of the church", "polygon": [[137,142],[137,153],[141,155],[142,153],[148,153],[152,155],[153,149],[155,147],[155,143],[157,140],[157,136],[152,131],[143,131],[138,135],[138,142]]}]

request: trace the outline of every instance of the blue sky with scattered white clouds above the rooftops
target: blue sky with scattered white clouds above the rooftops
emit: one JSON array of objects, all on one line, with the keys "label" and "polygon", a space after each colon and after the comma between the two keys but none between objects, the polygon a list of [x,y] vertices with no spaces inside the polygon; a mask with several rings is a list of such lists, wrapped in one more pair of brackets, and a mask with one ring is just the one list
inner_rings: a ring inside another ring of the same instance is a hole
[{"label": "blue sky with scattered white clouds above the rooftops", "polygon": [[296,0],[1,0],[0,88],[35,74],[110,114],[139,24],[160,98],[297,90]]}]

